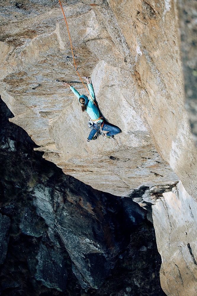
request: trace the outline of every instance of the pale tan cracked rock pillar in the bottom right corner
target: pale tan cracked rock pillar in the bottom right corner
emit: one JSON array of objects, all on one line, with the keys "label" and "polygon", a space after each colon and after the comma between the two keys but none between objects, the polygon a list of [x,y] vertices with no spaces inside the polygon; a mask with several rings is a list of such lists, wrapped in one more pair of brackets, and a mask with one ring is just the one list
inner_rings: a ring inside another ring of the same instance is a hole
[{"label": "pale tan cracked rock pillar in the bottom right corner", "polygon": [[162,257],[160,280],[167,295],[195,296],[197,291],[197,204],[181,181],[163,193],[153,208],[156,241]]}]

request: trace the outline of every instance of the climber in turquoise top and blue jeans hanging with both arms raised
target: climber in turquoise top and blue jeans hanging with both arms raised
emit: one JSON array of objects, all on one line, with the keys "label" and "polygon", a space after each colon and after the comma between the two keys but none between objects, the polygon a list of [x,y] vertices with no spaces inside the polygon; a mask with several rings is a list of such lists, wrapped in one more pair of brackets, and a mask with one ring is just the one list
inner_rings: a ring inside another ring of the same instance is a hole
[{"label": "climber in turquoise top and blue jeans hanging with both arms raised", "polygon": [[90,79],[88,77],[83,77],[83,78],[86,80],[87,85],[88,85],[88,89],[90,92],[89,99],[84,94],[80,95],[79,92],[73,86],[70,85],[70,83],[64,82],[64,83],[62,83],[62,85],[63,86],[70,86],[70,89],[72,90],[72,92],[79,99],[82,112],[86,111],[88,113],[88,115],[90,116],[91,121],[93,122],[93,126],[92,126],[92,129],[91,129],[91,132],[88,136],[87,141],[89,142],[91,140],[97,139],[97,137],[94,135],[97,131],[99,131],[99,128],[101,128],[101,131],[108,131],[108,133],[106,133],[106,134],[103,133],[103,136],[105,138],[109,138],[109,139],[113,138],[114,135],[116,135],[117,133],[120,133],[120,128],[118,128],[117,126],[112,126],[110,124],[107,124],[103,121],[103,118],[99,114],[98,107],[94,103],[95,94],[94,94],[92,83],[90,82]]}]

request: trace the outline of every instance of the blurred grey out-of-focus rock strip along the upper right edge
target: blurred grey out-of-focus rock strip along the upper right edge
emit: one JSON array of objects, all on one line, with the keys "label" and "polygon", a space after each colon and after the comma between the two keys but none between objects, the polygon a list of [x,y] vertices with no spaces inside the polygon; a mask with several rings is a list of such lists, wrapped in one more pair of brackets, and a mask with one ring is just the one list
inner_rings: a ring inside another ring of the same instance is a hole
[{"label": "blurred grey out-of-focus rock strip along the upper right edge", "polygon": [[185,79],[185,103],[188,110],[191,131],[197,147],[197,55],[196,55],[196,1],[178,0],[180,42]]}]

